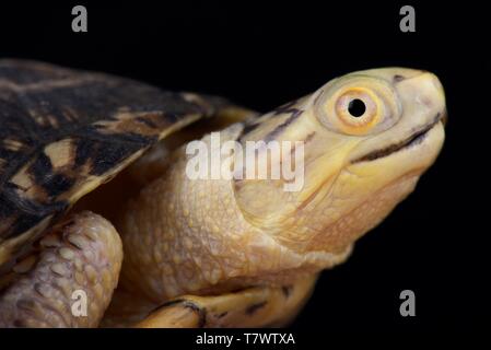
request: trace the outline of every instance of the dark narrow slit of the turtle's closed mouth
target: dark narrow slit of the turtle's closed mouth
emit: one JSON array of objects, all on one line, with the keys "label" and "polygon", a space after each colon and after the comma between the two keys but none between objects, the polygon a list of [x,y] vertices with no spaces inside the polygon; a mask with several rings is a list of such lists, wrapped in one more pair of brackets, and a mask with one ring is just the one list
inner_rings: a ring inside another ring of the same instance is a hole
[{"label": "dark narrow slit of the turtle's closed mouth", "polygon": [[433,129],[439,122],[442,122],[443,125],[446,125],[446,113],[437,113],[433,120],[428,124],[426,126],[420,128],[419,130],[411,133],[408,138],[404,139],[402,141],[399,141],[397,143],[389,144],[383,149],[378,149],[372,152],[369,152],[365,155],[362,155],[353,161],[351,161],[351,164],[360,163],[360,162],[371,162],[378,160],[381,158],[385,158],[387,155],[390,155],[395,152],[399,152],[401,150],[414,147],[426,138],[428,132]]}]

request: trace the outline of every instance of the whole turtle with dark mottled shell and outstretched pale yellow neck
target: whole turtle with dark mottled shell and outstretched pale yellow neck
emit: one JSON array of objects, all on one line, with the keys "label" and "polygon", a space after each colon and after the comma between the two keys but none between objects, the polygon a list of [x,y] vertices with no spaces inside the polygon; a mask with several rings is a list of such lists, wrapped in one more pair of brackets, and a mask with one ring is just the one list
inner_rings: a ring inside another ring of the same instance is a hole
[{"label": "whole turtle with dark mottled shell and outstretched pale yellow neck", "polygon": [[0,326],[288,325],[416,188],[445,121],[418,69],[258,113],[0,60]]}]

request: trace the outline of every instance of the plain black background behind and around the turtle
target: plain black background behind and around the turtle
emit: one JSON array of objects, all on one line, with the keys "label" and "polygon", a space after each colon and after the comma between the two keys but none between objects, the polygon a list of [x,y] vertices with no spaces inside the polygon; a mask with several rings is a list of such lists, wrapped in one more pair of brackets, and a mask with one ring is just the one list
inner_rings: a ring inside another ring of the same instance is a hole
[{"label": "plain black background behind and around the turtle", "polygon": [[[0,57],[46,60],[230,97],[268,110],[354,70],[433,71],[447,94],[447,139],[413,195],[324,272],[293,327],[327,331],[472,330],[490,294],[490,33],[476,4],[324,1],[173,4],[79,1],[89,32],[71,31],[74,2],[0,4]],[[488,65],[488,66],[487,66]],[[399,293],[417,316],[399,315]]]}]

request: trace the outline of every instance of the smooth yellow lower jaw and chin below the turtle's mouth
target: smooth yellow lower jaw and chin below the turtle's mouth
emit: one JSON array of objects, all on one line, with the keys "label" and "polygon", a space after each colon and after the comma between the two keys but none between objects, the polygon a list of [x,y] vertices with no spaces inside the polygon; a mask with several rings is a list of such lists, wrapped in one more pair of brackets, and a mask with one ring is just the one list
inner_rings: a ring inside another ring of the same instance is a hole
[{"label": "smooth yellow lower jaw and chin below the turtle's mouth", "polygon": [[[442,122],[419,143],[373,161],[343,167],[329,186],[329,196],[318,196],[303,233],[303,252],[342,252],[384,220],[416,187],[420,175],[435,161],[444,140]],[[296,237],[295,237],[296,238]]]}]

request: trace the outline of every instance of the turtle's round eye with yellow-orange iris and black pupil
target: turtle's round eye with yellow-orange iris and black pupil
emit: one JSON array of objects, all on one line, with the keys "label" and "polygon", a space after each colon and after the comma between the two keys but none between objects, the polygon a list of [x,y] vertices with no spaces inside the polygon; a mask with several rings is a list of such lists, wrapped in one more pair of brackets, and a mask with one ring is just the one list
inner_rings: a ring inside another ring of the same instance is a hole
[{"label": "turtle's round eye with yellow-orange iris and black pupil", "polygon": [[335,104],[343,131],[360,135],[369,131],[379,119],[377,96],[366,89],[350,89]]}]

